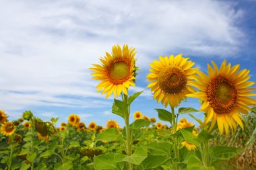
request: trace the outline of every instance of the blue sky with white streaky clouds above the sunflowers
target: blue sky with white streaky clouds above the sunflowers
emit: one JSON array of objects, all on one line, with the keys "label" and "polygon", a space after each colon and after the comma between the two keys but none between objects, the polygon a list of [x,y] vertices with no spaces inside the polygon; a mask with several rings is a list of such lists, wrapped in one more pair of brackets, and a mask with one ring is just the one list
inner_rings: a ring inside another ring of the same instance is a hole
[{"label": "blue sky with white streaky clouds above the sunflowers", "polygon": [[[0,109],[10,120],[32,110],[43,120],[59,117],[59,123],[78,114],[86,124],[114,119],[122,126],[111,114],[113,97],[96,93],[99,82],[88,70],[114,44],[137,51],[141,71],[130,93],[144,92],[132,113],[157,117],[154,108],[164,108],[146,89],[148,63],[160,55],[183,54],[204,72],[211,60],[220,66],[226,59],[250,69],[255,81],[255,9],[253,0],[1,1]],[[199,106],[197,99],[181,103]]]}]

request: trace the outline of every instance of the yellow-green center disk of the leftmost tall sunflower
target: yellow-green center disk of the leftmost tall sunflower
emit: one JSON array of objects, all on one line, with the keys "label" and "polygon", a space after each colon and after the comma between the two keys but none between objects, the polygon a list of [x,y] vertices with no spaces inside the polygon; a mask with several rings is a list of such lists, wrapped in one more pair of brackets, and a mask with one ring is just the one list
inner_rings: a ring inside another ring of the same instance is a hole
[{"label": "yellow-green center disk of the leftmost tall sunflower", "polygon": [[124,61],[113,63],[110,67],[109,75],[114,84],[120,84],[129,78],[130,67]]}]

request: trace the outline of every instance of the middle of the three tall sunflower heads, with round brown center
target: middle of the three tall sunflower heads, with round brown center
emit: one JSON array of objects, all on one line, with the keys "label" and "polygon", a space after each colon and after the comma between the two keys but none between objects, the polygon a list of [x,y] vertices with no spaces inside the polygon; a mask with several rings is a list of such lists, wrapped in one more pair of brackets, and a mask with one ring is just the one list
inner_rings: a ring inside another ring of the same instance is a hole
[{"label": "middle of the three tall sunflower heads, with round brown center", "polygon": [[195,77],[197,69],[191,68],[195,64],[189,58],[183,58],[181,54],[160,56],[159,60],[150,63],[152,69],[147,75],[148,85],[151,91],[154,91],[153,99],[161,101],[165,108],[170,105],[172,108],[177,107],[181,100],[187,99],[185,96],[194,93],[195,89],[191,87],[191,79]]}]

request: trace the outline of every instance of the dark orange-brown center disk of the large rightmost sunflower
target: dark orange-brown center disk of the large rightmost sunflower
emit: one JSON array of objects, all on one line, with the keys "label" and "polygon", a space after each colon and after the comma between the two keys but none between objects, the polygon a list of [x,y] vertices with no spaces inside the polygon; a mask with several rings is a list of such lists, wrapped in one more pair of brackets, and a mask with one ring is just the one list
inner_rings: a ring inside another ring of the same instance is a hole
[{"label": "dark orange-brown center disk of the large rightmost sunflower", "polygon": [[207,86],[207,99],[217,114],[228,114],[236,105],[237,90],[225,77],[216,77]]}]

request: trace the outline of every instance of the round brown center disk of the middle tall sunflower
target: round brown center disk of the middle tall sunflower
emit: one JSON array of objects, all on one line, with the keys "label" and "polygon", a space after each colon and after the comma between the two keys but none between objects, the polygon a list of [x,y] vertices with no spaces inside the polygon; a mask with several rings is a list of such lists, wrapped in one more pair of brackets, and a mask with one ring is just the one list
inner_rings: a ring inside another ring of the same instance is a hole
[{"label": "round brown center disk of the middle tall sunflower", "polygon": [[179,67],[169,66],[160,71],[158,84],[166,93],[179,93],[187,84],[187,78],[184,71]]}]

